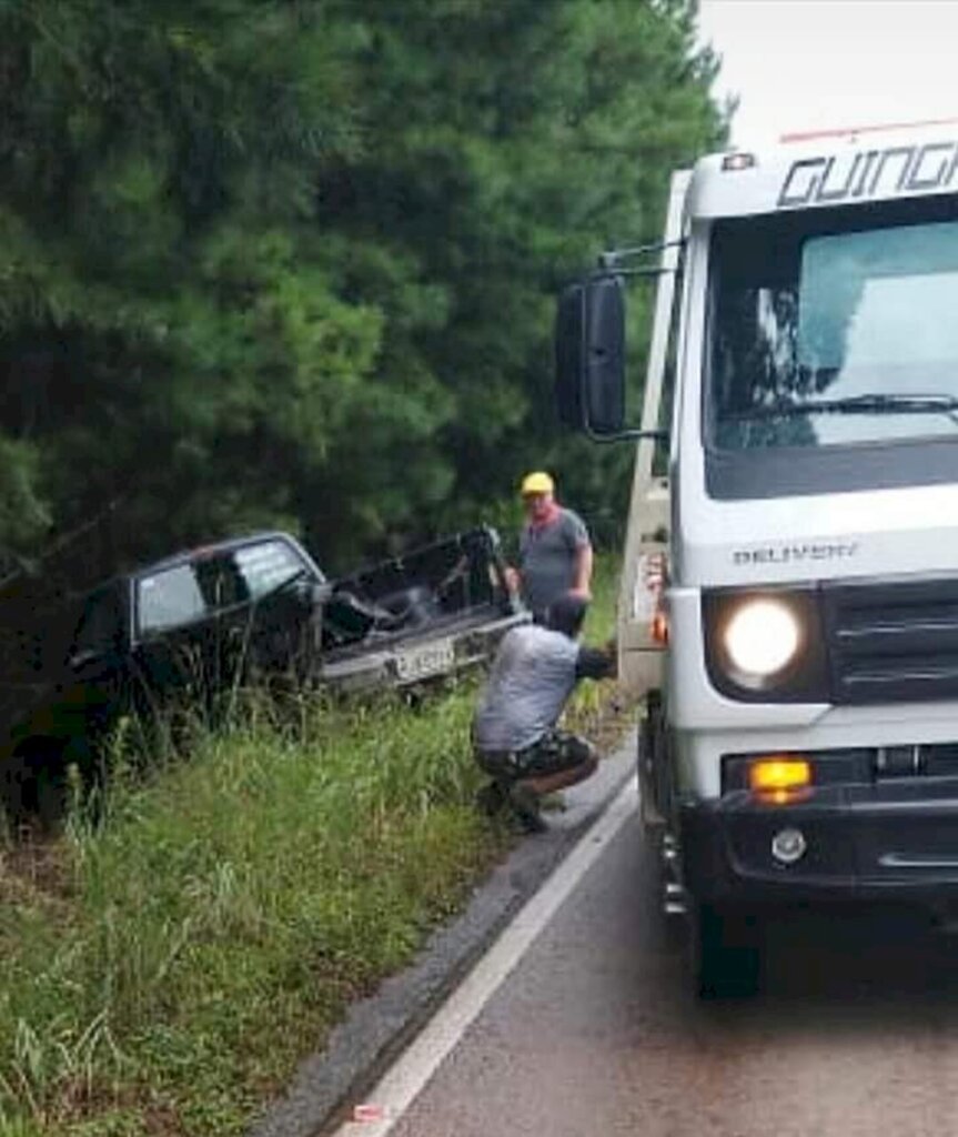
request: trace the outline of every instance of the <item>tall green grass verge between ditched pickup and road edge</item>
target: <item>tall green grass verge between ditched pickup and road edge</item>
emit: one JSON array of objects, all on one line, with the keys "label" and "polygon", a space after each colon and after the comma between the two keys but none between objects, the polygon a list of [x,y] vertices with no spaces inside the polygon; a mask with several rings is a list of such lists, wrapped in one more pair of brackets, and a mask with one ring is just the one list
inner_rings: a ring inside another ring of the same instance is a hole
[{"label": "tall green grass verge between ditched pickup and road edge", "polygon": [[[593,641],[614,599],[603,564]],[[0,1135],[244,1131],[511,840],[472,805],[474,700],[253,705],[98,825],[0,848]]]}]

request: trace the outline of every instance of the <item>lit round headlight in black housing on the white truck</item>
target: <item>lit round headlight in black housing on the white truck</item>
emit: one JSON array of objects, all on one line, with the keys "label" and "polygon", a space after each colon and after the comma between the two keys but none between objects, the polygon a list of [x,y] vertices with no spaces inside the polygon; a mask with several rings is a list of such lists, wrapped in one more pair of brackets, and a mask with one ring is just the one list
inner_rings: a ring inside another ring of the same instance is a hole
[{"label": "lit round headlight in black housing on the white truck", "polygon": [[827,669],[814,587],[702,594],[713,684],[751,702],[825,702]]}]

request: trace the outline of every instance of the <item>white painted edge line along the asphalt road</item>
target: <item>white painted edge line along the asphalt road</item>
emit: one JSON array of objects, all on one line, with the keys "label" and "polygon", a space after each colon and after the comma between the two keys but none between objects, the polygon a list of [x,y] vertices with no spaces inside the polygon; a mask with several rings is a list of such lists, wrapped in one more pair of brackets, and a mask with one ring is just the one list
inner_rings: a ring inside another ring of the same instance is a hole
[{"label": "white painted edge line along the asphalt road", "polygon": [[422,1034],[369,1093],[365,1105],[360,1106],[360,1113],[368,1120],[347,1121],[336,1130],[335,1137],[385,1137],[575,886],[635,812],[636,802],[635,779],[630,778],[573,852],[519,910]]}]

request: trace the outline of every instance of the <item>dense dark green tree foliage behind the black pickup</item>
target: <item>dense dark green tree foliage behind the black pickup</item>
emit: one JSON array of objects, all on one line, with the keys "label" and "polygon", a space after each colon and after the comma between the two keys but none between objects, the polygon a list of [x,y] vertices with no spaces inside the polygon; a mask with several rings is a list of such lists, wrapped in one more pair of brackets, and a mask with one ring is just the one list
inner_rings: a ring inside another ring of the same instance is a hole
[{"label": "dense dark green tree foliage behind the black pickup", "polygon": [[327,564],[492,516],[556,432],[555,293],[716,143],[692,0],[0,0],[0,548]]}]

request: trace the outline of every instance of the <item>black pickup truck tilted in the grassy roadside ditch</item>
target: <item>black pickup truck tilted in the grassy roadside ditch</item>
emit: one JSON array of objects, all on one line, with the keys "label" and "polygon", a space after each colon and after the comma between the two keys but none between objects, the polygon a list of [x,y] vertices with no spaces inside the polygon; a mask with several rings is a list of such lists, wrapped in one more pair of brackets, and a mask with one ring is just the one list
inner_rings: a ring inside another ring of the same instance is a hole
[{"label": "black pickup truck tilted in the grassy roadside ditch", "polygon": [[528,614],[489,529],[338,580],[282,532],[192,548],[70,596],[0,588],[0,795],[55,815],[118,720],[216,721],[243,686],[408,688],[488,658]]}]

